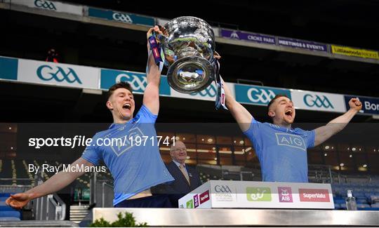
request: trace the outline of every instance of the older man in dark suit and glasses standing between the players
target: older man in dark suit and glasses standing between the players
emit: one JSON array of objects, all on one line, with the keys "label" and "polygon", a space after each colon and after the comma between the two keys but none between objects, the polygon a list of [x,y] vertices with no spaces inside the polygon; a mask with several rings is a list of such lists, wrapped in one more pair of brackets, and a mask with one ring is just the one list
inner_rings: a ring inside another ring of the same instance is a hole
[{"label": "older man in dark suit and glasses standing between the players", "polygon": [[166,185],[165,191],[173,207],[178,208],[178,199],[199,187],[201,180],[197,170],[185,165],[187,148],[183,142],[175,141],[175,145],[171,145],[170,155],[173,161],[166,164],[166,168],[175,180]]}]

